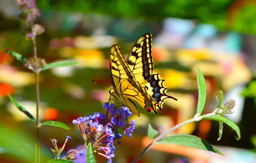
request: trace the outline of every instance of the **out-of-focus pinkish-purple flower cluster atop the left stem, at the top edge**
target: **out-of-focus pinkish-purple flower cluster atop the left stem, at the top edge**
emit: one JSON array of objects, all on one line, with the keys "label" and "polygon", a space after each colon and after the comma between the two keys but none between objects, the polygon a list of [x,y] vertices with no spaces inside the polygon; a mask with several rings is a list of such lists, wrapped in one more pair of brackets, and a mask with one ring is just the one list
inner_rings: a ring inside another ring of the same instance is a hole
[{"label": "out-of-focus pinkish-purple flower cluster atop the left stem, at the top edge", "polygon": [[37,16],[40,16],[39,9],[37,9],[35,0],[16,0],[18,6],[26,14],[28,22],[34,21]]}]

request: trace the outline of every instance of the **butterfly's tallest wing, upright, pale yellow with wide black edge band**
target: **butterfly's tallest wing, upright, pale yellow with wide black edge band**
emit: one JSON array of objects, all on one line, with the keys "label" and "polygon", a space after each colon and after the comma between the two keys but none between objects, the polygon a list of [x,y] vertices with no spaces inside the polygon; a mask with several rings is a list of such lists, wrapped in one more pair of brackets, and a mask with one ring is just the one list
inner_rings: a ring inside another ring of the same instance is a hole
[{"label": "butterfly's tallest wing, upright, pale yellow with wide black edge band", "polygon": [[153,73],[153,58],[152,58],[152,36],[146,33],[135,42],[127,57],[128,63],[135,81],[139,84],[145,84]]}]

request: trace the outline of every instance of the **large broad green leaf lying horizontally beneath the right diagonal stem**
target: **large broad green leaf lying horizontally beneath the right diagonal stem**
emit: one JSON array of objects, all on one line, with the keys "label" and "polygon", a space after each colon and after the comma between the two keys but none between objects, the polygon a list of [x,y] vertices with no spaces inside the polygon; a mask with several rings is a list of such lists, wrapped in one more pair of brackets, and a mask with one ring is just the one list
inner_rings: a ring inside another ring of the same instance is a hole
[{"label": "large broad green leaf lying horizontally beneath the right diagonal stem", "polygon": [[213,145],[210,145],[205,140],[192,135],[177,134],[172,136],[166,136],[164,139],[160,140],[156,144],[158,143],[184,145],[187,147],[202,149],[204,151],[211,151],[217,154],[224,155],[220,151],[218,151]]}]

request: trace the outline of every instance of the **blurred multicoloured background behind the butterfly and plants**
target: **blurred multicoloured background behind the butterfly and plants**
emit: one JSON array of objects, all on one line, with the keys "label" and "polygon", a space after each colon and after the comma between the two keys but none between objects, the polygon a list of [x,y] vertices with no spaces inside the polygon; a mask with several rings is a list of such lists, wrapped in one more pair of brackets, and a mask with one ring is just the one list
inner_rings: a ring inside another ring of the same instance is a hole
[{"label": "blurred multicoloured background behind the butterfly and plants", "polygon": [[[83,143],[72,120],[103,112],[111,86],[110,46],[118,44],[125,58],[134,42],[152,33],[154,72],[165,79],[168,100],[154,115],[140,108],[131,138],[123,136],[117,145],[114,163],[129,163],[149,144],[148,124],[165,132],[192,118],[198,98],[197,67],[204,74],[207,99],[204,113],[224,101],[236,100],[235,113],[226,117],[241,130],[241,140],[224,124],[218,138],[218,122],[188,124],[174,133],[192,134],[216,146],[225,156],[178,145],[155,145],[139,163],[252,163],[256,162],[256,3],[252,0],[37,0],[41,16],[36,23],[46,32],[37,37],[38,56],[46,63],[78,61],[40,74],[40,121],[60,121],[71,129],[40,128],[41,160],[53,159],[55,138],[66,149]],[[6,54],[11,50],[30,58],[32,44],[24,33],[29,26],[20,21],[15,0],[0,0],[0,162],[31,163],[35,155],[35,127],[10,102],[9,92],[32,115],[36,96],[34,74]],[[112,87],[112,86],[111,86]],[[172,134],[174,134],[172,133]],[[65,152],[63,152],[65,153]],[[95,154],[97,155],[97,154]],[[107,162],[96,156],[98,162]]]}]

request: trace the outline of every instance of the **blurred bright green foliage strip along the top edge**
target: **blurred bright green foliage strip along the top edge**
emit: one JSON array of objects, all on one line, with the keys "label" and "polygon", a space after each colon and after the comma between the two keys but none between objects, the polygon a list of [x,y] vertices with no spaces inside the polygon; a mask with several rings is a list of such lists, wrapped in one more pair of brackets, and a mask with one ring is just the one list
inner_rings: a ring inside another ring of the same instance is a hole
[{"label": "blurred bright green foliage strip along the top edge", "polygon": [[249,1],[240,3],[240,1],[39,0],[37,1],[37,6],[41,10],[99,13],[122,18],[145,18],[150,20],[159,20],[166,17],[174,17],[196,19],[201,23],[214,24],[219,30],[234,30],[239,33],[255,34],[256,20],[254,15],[256,14],[256,3]]}]

